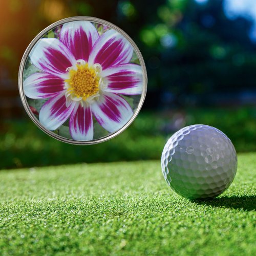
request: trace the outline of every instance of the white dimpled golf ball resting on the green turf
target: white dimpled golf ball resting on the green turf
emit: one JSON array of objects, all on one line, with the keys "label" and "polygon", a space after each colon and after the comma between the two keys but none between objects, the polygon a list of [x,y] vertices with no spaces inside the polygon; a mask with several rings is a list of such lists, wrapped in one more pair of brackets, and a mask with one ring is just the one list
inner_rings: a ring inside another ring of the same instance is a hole
[{"label": "white dimpled golf ball resting on the green turf", "polygon": [[186,126],[164,146],[162,172],[168,185],[188,199],[219,196],[237,172],[237,153],[230,139],[215,127]]}]

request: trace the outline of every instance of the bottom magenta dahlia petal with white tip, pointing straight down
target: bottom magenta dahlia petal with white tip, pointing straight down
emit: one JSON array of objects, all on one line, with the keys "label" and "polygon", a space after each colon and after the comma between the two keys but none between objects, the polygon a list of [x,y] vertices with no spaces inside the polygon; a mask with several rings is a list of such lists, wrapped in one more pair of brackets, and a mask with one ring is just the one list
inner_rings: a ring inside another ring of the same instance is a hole
[{"label": "bottom magenta dahlia petal with white tip, pointing straight down", "polygon": [[90,107],[82,107],[79,104],[70,116],[69,131],[74,140],[93,139],[93,117]]}]

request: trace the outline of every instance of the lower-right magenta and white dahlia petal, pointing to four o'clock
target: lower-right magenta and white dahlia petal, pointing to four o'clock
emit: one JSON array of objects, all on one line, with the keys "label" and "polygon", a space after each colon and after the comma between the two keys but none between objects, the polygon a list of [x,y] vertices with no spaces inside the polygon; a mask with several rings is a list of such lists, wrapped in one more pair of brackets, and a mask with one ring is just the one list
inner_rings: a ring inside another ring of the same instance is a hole
[{"label": "lower-right magenta and white dahlia petal, pointing to four o'clock", "polygon": [[123,127],[133,116],[129,103],[114,93],[105,93],[92,103],[91,110],[99,124],[113,133]]}]

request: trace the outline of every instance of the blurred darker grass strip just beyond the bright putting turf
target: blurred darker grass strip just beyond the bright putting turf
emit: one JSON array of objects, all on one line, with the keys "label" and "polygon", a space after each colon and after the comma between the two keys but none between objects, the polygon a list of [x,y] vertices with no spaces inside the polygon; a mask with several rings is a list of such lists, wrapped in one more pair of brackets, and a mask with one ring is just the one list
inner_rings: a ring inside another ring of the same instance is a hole
[{"label": "blurred darker grass strip just beyond the bright putting turf", "polygon": [[223,131],[237,152],[256,151],[256,108],[252,107],[195,108],[159,113],[142,111],[122,134],[91,146],[57,141],[27,117],[26,120],[0,120],[0,169],[158,159],[170,135],[181,127],[196,123]]}]

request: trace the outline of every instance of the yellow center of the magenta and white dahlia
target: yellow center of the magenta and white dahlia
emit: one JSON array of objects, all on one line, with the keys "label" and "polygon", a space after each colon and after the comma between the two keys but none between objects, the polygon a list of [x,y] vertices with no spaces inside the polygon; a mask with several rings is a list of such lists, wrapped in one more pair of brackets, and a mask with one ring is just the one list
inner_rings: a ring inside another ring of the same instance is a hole
[{"label": "yellow center of the magenta and white dahlia", "polygon": [[94,68],[88,67],[88,63],[78,63],[76,67],[76,70],[69,70],[69,79],[65,80],[69,85],[67,92],[73,95],[73,98],[75,96],[86,100],[99,91],[100,78]]}]

